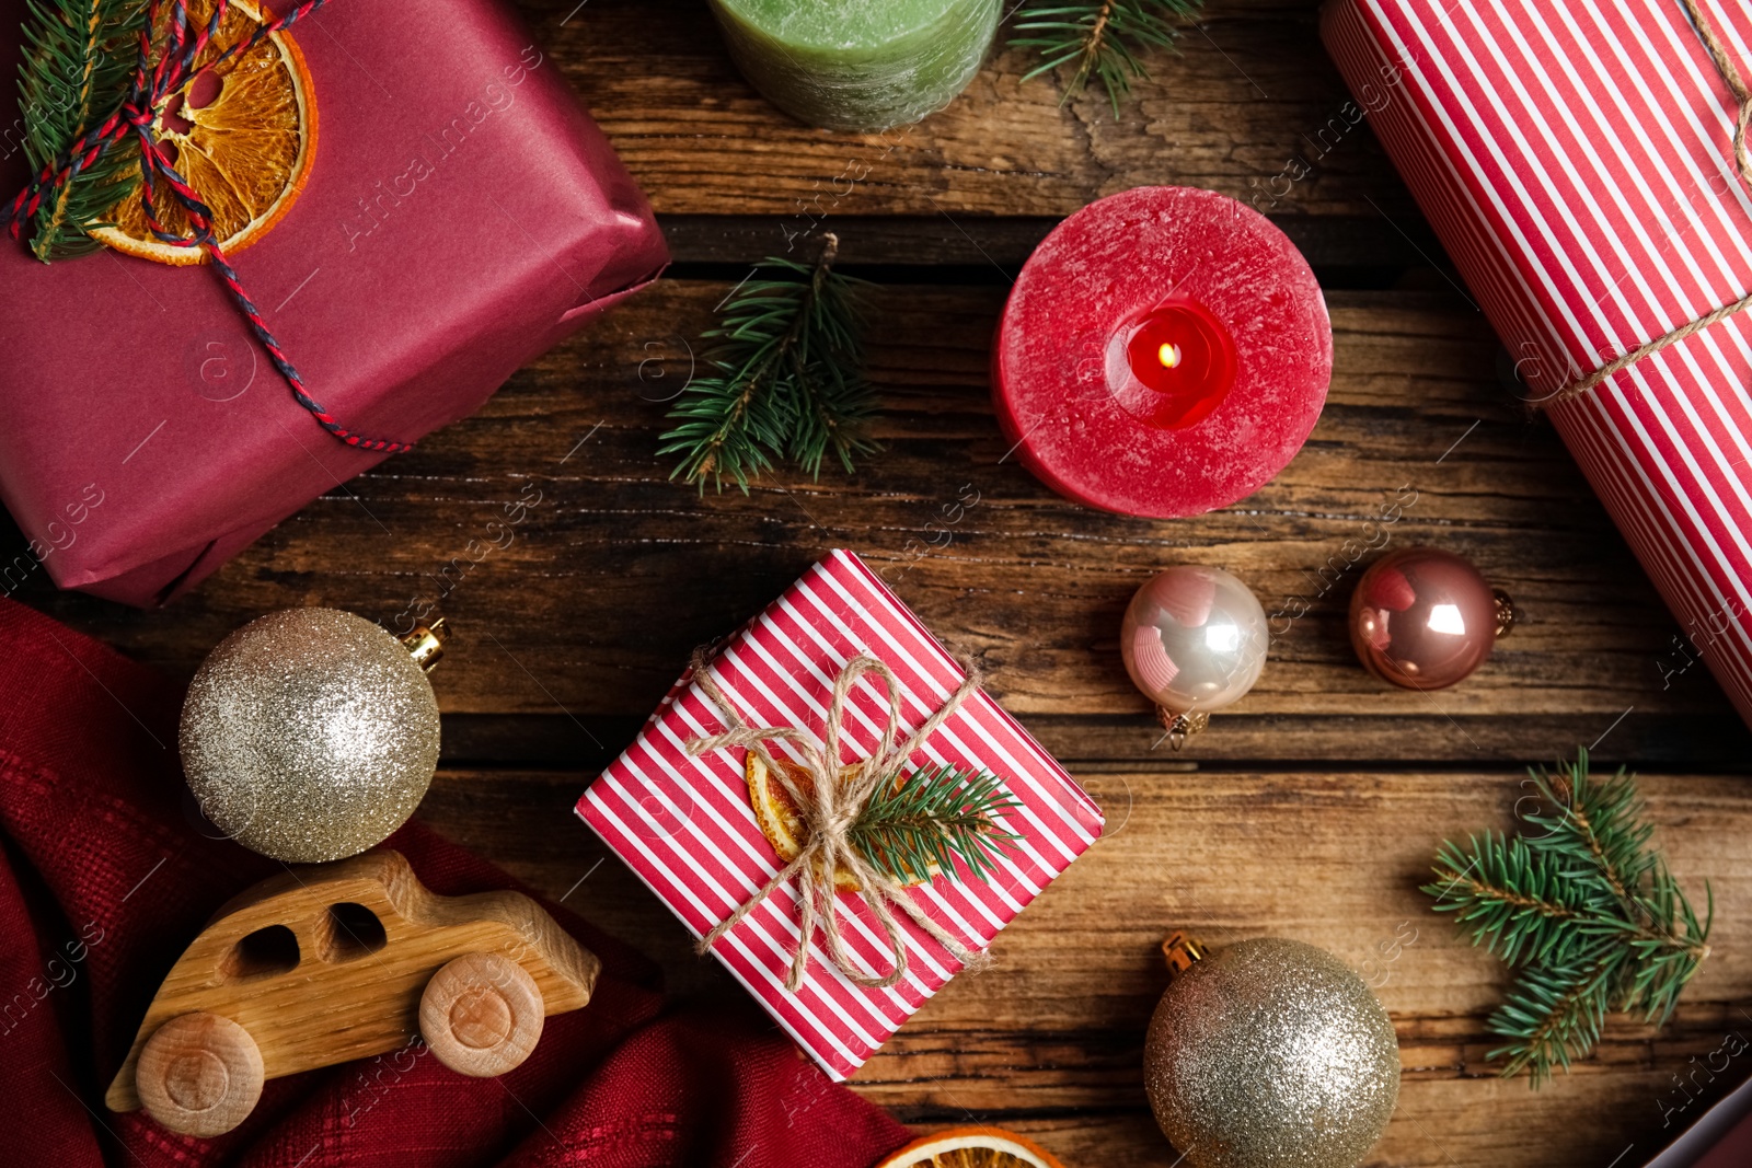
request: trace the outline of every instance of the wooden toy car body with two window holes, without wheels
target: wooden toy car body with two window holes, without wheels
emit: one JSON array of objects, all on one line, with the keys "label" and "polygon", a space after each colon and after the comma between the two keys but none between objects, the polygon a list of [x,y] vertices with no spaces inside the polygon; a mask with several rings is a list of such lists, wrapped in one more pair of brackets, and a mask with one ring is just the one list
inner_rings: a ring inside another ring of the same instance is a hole
[{"label": "wooden toy car body with two window holes, without wheels", "polygon": [[394,851],[287,869],[226,902],[177,958],[105,1103],[142,1105],[142,1049],[186,1014],[242,1026],[268,1079],[405,1047],[420,1035],[427,982],[466,954],[526,970],[548,1014],[583,1009],[601,968],[529,897],[438,897]]}]

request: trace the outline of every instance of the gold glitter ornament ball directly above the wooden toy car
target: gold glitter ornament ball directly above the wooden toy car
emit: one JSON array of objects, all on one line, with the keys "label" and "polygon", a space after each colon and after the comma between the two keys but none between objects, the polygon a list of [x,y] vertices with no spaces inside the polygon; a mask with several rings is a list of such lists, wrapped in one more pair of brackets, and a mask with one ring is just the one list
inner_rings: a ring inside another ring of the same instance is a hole
[{"label": "gold glitter ornament ball directly above the wooden toy car", "polygon": [[401,827],[438,767],[438,699],[408,648],[333,608],[254,620],[219,643],[182,704],[201,813],[287,863],[352,856]]}]

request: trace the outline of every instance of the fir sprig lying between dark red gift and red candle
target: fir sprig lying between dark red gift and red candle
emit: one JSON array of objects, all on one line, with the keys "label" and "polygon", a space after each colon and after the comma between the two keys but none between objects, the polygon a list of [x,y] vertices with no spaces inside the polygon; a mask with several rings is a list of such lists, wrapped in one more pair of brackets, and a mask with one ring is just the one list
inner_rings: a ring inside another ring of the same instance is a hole
[{"label": "fir sprig lying between dark red gift and red candle", "polygon": [[851,457],[878,447],[867,438],[876,392],[864,376],[862,280],[834,271],[839,240],[827,235],[813,264],[769,257],[780,278],[750,278],[732,292],[720,324],[704,336],[713,371],[696,378],[669,412],[676,427],[659,454],[680,454],[671,478],[710,480],[724,490],[778,459],[818,478],[832,455],[850,475]]}]

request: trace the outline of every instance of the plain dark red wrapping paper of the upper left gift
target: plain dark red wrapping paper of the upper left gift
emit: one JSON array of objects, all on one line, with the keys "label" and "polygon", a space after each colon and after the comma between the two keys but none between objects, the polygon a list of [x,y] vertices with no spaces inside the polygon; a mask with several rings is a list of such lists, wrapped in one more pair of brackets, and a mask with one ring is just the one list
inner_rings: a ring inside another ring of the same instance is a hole
[{"label": "plain dark red wrapping paper of the upper left gift", "polygon": [[[277,9],[280,5],[275,5]],[[0,198],[28,179],[0,0]],[[668,261],[645,196],[498,0],[333,0],[293,28],[317,154],[231,254],[310,394],[413,441]],[[217,277],[0,238],[0,499],[61,587],[151,604],[384,455],[300,408]]]}]

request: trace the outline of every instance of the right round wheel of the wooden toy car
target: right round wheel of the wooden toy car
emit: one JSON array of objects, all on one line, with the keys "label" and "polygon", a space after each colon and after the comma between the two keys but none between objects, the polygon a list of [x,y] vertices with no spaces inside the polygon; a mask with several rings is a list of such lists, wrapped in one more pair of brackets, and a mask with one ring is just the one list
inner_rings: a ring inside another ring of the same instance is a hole
[{"label": "right round wheel of the wooden toy car", "polygon": [[541,989],[499,953],[468,953],[426,982],[420,1035],[438,1061],[463,1075],[491,1079],[536,1049],[547,1009]]}]

